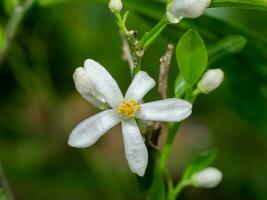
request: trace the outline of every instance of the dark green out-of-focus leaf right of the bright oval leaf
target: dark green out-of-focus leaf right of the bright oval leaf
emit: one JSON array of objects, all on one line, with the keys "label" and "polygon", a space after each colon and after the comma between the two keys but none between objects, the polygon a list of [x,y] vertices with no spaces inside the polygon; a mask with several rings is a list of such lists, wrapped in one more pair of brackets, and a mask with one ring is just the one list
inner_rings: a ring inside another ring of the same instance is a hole
[{"label": "dark green out-of-focus leaf right of the bright oval leaf", "polygon": [[230,53],[238,53],[246,46],[247,40],[240,35],[232,35],[219,40],[208,48],[209,64]]}]

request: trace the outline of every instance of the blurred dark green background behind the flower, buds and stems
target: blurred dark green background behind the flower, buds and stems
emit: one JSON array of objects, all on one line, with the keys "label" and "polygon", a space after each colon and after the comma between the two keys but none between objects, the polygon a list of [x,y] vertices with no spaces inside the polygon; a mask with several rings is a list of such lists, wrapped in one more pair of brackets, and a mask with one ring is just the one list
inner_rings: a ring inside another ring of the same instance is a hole
[{"label": "blurred dark green background behind the flower, buds and stems", "polygon": [[[138,29],[140,35],[164,12],[164,5],[153,1],[128,0],[126,8],[128,27]],[[1,1],[2,26],[8,19]],[[195,154],[217,147],[214,166],[224,179],[215,189],[187,188],[180,199],[267,199],[266,21],[264,11],[209,9],[198,19],[169,26],[145,56],[144,70],[157,80],[159,58],[167,44],[176,44],[189,28],[199,31],[210,49],[233,34],[247,40],[240,52],[225,48],[210,58],[210,67],[222,67],[226,79],[218,90],[199,97],[176,138],[169,163],[179,180]],[[75,68],[86,58],[95,59],[125,92],[131,78],[120,45],[106,4],[36,3],[27,12],[0,65],[0,161],[15,199],[137,199],[120,127],[91,148],[67,145],[72,128],[97,112],[75,90]],[[173,59],[169,96],[177,73]],[[157,90],[146,99],[159,99]],[[3,185],[3,174],[0,181]]]}]

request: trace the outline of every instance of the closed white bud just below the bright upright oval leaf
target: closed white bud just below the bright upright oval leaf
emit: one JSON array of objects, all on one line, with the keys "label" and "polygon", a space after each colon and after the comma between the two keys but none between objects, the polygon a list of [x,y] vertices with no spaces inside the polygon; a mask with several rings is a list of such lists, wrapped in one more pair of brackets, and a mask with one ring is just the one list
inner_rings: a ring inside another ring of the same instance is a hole
[{"label": "closed white bud just below the bright upright oval leaf", "polygon": [[223,79],[224,73],[221,69],[210,69],[198,82],[197,87],[202,93],[208,94],[219,87]]}]

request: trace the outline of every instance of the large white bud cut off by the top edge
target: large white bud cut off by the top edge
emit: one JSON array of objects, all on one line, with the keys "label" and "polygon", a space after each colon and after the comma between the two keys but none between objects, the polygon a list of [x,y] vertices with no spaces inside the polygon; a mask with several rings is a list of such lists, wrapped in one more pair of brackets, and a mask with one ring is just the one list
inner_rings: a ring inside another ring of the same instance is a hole
[{"label": "large white bud cut off by the top edge", "polygon": [[167,8],[170,23],[178,23],[182,18],[196,18],[202,15],[211,0],[173,0]]}]

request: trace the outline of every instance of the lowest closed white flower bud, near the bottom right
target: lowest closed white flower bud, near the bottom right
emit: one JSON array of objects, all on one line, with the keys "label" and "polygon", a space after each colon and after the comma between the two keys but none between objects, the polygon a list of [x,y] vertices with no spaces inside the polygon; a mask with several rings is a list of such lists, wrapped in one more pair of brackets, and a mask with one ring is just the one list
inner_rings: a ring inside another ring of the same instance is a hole
[{"label": "lowest closed white flower bud, near the bottom right", "polygon": [[222,172],[214,167],[208,167],[193,174],[192,185],[194,187],[213,188],[222,180]]}]

